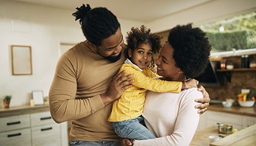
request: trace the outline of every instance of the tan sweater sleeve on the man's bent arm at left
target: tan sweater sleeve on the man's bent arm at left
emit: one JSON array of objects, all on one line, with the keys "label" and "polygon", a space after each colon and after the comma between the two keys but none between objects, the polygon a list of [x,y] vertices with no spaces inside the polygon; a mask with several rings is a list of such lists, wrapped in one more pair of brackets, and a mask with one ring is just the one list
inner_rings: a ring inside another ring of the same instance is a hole
[{"label": "tan sweater sleeve on the man's bent arm at left", "polygon": [[49,90],[50,112],[57,123],[87,117],[105,106],[99,95],[79,98],[76,77],[76,61],[62,55]]}]

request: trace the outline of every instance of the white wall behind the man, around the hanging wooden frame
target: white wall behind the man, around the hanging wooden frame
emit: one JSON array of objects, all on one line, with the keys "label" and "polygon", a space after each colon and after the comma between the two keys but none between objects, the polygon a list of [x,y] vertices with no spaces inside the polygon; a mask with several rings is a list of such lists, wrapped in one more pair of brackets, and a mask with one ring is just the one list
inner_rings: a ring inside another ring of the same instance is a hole
[{"label": "white wall behind the man, around the hanging wooden frame", "polygon": [[[29,105],[33,90],[43,90],[44,96],[48,96],[60,43],[85,40],[79,21],[71,16],[75,11],[0,1],[0,96],[11,94],[10,106]],[[13,20],[15,26],[27,25],[20,28],[21,32],[13,31]],[[132,26],[141,25],[126,19],[119,22],[124,36]],[[10,45],[32,47],[32,75],[12,75]],[[3,108],[2,100],[0,108]]]}]

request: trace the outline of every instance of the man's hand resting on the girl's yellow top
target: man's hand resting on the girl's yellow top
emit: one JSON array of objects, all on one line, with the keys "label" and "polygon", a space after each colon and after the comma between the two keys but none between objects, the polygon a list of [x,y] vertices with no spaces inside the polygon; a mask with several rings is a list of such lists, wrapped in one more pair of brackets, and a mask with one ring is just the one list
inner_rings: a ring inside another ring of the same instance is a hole
[{"label": "man's hand resting on the girl's yellow top", "polygon": [[129,80],[132,78],[132,75],[126,75],[123,77],[124,74],[126,74],[126,71],[116,74],[109,85],[108,91],[101,94],[104,105],[108,105],[114,100],[119,99],[123,92],[132,86],[131,83],[133,83],[134,80]]}]

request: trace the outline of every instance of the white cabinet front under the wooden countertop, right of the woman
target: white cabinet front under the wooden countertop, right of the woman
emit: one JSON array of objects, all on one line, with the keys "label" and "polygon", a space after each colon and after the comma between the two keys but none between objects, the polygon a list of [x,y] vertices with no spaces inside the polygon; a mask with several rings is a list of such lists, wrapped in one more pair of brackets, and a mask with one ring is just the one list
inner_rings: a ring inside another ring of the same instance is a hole
[{"label": "white cabinet front under the wooden countertop, right of the woman", "polygon": [[229,114],[229,113],[223,113],[219,111],[207,111],[207,120],[216,120],[219,121],[219,123],[226,123],[226,124],[236,124],[236,125],[242,125],[242,115],[239,114]]}]

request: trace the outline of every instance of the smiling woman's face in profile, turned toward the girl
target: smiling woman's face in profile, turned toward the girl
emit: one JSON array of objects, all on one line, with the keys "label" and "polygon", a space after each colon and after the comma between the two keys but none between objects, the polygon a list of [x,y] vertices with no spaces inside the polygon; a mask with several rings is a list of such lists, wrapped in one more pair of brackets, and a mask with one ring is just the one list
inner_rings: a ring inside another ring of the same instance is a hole
[{"label": "smiling woman's face in profile, turned toward the girl", "polygon": [[169,80],[179,81],[184,80],[183,72],[180,68],[175,66],[176,62],[173,56],[173,48],[171,44],[166,43],[160,52],[158,59],[155,61],[157,64],[157,74],[169,78]]}]

